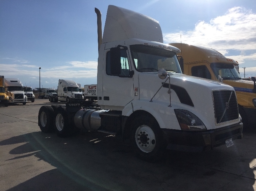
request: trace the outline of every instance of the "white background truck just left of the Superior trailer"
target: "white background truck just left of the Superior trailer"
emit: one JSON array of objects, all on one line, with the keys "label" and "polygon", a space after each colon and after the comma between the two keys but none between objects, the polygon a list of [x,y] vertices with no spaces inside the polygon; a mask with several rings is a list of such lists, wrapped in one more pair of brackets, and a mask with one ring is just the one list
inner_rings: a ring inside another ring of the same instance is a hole
[{"label": "white background truck just left of the Superior trailer", "polygon": [[60,102],[69,103],[84,100],[82,92],[79,92],[78,85],[73,80],[59,79],[57,95]]}]

